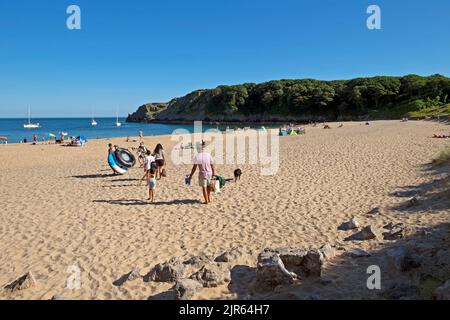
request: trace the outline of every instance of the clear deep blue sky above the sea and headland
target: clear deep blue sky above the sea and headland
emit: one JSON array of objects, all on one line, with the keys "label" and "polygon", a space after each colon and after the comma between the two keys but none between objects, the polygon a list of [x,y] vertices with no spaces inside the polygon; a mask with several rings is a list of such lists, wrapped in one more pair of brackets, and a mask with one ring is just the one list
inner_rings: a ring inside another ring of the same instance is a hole
[{"label": "clear deep blue sky above the sea and headland", "polygon": [[[66,8],[82,29],[66,28]],[[382,9],[382,30],[366,9]],[[125,115],[280,78],[450,75],[450,1],[0,0],[0,117]]]}]

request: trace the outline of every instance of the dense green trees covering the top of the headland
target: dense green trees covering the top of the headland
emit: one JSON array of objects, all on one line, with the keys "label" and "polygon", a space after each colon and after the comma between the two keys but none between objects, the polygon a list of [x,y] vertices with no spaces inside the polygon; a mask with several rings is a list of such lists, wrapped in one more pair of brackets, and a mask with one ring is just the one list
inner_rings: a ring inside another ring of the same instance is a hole
[{"label": "dense green trees covering the top of the headland", "polygon": [[219,86],[204,94],[199,99],[206,113],[212,115],[401,116],[449,103],[450,78],[408,75],[338,81],[276,80]]}]

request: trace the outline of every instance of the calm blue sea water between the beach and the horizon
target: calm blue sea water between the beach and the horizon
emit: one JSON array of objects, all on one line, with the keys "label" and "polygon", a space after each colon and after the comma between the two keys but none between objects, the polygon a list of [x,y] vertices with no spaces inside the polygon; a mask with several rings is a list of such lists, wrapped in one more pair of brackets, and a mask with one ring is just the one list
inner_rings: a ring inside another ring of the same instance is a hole
[{"label": "calm blue sea water between the beach and the horizon", "polygon": [[[171,134],[178,128],[193,131],[193,125],[126,123],[125,118],[119,118],[122,126],[116,127],[116,118],[96,118],[95,120],[98,123],[97,126],[91,125],[90,118],[32,119],[32,122],[38,122],[41,128],[25,129],[23,125],[27,122],[26,119],[0,119],[0,136],[7,137],[9,143],[17,143],[24,139],[32,141],[34,134],[37,134],[39,141],[43,138],[48,139],[49,134],[54,134],[59,139],[60,132],[67,132],[69,136],[83,135],[87,139],[97,139],[137,137],[139,130],[142,130],[145,136]],[[216,126],[203,126],[203,128],[207,130]],[[223,130],[223,128],[219,129]]]}]

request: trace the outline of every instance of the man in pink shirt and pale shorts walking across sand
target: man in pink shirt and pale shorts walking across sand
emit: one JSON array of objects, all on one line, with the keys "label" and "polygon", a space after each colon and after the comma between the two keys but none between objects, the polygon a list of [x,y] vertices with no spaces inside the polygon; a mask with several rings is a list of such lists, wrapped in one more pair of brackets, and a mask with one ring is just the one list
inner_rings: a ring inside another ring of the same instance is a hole
[{"label": "man in pink shirt and pale shorts walking across sand", "polygon": [[202,141],[201,150],[193,159],[194,166],[192,167],[189,180],[192,181],[192,177],[198,167],[198,184],[202,188],[205,204],[208,204],[211,202],[211,179],[216,174],[216,170],[214,168],[212,156],[204,150],[205,145],[205,142]]}]

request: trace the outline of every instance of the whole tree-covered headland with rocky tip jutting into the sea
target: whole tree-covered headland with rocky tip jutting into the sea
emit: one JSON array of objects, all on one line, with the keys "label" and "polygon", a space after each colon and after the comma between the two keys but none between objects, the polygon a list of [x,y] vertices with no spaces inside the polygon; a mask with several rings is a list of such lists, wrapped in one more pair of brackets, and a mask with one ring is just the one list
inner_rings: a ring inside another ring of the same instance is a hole
[{"label": "whole tree-covered headland with rocky tip jutting into the sea", "polygon": [[[274,80],[197,90],[151,103],[129,122],[296,122],[395,119],[426,115],[450,101],[450,78],[372,77],[352,80]],[[444,108],[445,109],[445,108]],[[447,109],[445,109],[447,110]]]}]

